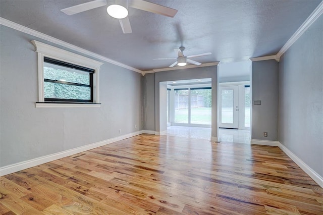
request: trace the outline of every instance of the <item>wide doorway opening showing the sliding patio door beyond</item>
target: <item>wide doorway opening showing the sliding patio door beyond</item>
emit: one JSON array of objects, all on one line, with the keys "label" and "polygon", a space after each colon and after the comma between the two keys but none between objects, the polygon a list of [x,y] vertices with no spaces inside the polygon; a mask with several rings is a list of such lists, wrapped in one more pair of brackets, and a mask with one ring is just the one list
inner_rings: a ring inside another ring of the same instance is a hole
[{"label": "wide doorway opening showing the sliding patio door beyond", "polygon": [[[160,134],[210,139],[212,119],[211,78],[168,81],[160,83],[160,90],[163,90],[163,88],[164,90],[167,88],[165,116],[167,128]],[[160,109],[163,109],[161,106]],[[160,115],[161,117],[164,118]]]}]

